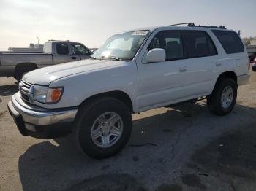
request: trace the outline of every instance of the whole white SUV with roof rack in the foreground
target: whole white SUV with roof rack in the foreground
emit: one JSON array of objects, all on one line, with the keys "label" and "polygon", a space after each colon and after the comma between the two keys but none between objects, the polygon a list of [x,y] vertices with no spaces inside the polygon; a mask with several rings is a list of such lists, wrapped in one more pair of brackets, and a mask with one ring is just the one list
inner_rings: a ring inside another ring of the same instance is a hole
[{"label": "whole white SUV with roof rack in the foreground", "polygon": [[205,96],[231,112],[249,58],[224,26],[162,26],[116,34],[93,58],[26,74],[8,108],[24,136],[72,133],[84,153],[110,157],[129,140],[132,113]]}]

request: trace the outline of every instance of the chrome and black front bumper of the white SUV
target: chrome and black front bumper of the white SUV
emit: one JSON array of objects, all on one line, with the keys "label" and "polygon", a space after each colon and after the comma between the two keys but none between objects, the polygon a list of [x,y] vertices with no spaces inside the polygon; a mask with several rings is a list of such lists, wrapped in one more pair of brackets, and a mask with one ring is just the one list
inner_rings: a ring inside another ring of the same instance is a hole
[{"label": "chrome and black front bumper of the white SUV", "polygon": [[77,108],[53,110],[28,106],[20,99],[19,93],[12,95],[8,110],[23,136],[39,139],[53,139],[71,132],[78,112]]}]

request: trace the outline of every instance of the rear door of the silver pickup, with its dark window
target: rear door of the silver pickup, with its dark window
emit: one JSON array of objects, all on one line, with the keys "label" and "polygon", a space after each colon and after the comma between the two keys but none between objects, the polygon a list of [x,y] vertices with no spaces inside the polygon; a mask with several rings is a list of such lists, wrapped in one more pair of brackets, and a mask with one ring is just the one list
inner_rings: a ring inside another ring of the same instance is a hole
[{"label": "rear door of the silver pickup, with its dark window", "polygon": [[71,54],[69,53],[69,44],[67,42],[56,43],[55,52],[56,54],[53,56],[54,64],[72,61]]}]

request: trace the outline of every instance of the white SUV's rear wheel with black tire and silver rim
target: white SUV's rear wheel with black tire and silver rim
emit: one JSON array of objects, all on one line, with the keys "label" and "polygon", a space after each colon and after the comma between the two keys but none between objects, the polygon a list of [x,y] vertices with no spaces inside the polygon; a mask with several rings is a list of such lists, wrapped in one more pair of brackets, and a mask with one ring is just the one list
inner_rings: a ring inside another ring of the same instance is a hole
[{"label": "white SUV's rear wheel with black tire and silver rim", "polygon": [[218,80],[213,92],[207,98],[210,112],[219,116],[229,114],[236,104],[237,87],[233,79],[224,77]]}]

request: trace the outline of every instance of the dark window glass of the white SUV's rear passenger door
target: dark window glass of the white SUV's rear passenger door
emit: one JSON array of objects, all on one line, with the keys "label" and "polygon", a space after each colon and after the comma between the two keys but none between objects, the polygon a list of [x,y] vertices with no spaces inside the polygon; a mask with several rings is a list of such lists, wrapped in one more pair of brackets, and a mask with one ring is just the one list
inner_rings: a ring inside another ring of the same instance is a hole
[{"label": "dark window glass of the white SUV's rear passenger door", "polygon": [[210,36],[205,31],[184,31],[189,58],[217,55]]}]

